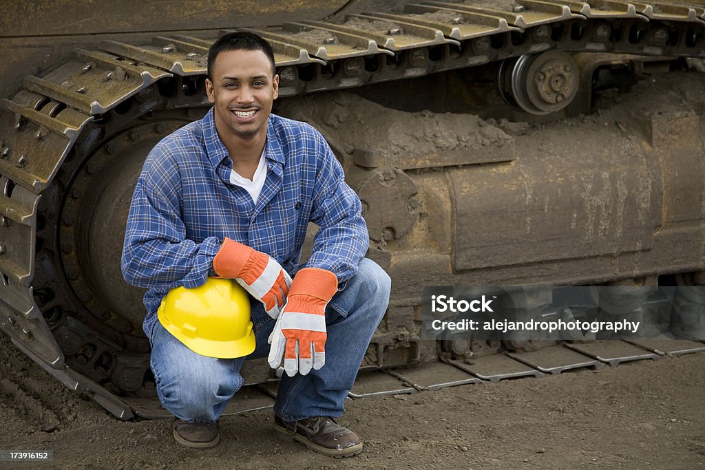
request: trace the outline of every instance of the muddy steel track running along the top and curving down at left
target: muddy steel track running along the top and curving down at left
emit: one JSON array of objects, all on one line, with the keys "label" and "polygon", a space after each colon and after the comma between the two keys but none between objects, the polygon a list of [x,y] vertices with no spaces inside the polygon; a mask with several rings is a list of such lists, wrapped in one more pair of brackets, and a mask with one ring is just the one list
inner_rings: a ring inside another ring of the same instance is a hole
[{"label": "muddy steel track running along the top and curving down at left", "polygon": [[[252,31],[274,47],[281,97],[491,62],[516,61],[518,70],[522,57],[546,51],[705,57],[705,8],[667,3],[524,0],[505,11],[428,1],[407,5],[404,13],[355,13]],[[75,207],[91,197],[94,175],[120,168],[115,156],[125,146],[147,148],[202,116],[207,50],[215,39],[166,35],[149,45],[104,41],[75,49],[71,60],[25,78],[20,92],[0,100],[0,326],[51,375],[121,419],[133,411],[118,391],[137,398],[153,393],[144,383],[149,344],[138,314],[116,314],[80,269],[71,240],[87,228]],[[529,113],[551,112],[577,91],[577,69],[563,67],[571,80],[548,94],[540,87],[517,92],[516,74],[508,76],[506,99]],[[441,161],[416,168],[442,167]],[[56,254],[63,272],[52,261]],[[393,297],[391,308],[411,311],[418,297]],[[380,333],[367,366],[389,366],[385,345],[407,340]]]}]

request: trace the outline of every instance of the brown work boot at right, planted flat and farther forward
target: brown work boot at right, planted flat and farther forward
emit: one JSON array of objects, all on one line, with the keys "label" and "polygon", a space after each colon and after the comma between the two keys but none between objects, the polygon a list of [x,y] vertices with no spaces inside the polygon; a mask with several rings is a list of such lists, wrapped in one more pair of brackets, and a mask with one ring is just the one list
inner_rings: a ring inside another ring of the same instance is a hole
[{"label": "brown work boot at right, planted flat and farther forward", "polygon": [[274,430],[287,440],[298,440],[309,449],[329,457],[352,457],[362,452],[360,437],[330,416],[311,416],[287,422],[274,415]]}]

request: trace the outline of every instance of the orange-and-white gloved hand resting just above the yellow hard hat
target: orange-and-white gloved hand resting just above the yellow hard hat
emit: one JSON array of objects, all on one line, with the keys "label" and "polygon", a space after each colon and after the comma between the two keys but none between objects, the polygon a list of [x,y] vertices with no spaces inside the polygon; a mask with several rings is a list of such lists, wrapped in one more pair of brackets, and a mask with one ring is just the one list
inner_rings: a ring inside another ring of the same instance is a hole
[{"label": "orange-and-white gloved hand resting just above the yellow hard hat", "polygon": [[213,269],[221,278],[235,279],[264,304],[271,318],[279,316],[291,285],[291,276],[269,255],[226,237],[213,259]]}]

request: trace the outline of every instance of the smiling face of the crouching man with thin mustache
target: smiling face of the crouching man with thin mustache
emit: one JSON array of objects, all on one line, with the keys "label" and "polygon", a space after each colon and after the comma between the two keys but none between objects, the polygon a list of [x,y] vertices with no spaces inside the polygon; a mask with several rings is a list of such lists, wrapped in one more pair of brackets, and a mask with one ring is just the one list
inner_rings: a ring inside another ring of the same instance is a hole
[{"label": "smiling face of the crouching man with thin mustache", "polygon": [[263,51],[236,49],[216,56],[213,81],[206,79],[206,93],[215,104],[216,129],[240,139],[266,135],[272,102],[278,97],[279,76]]}]

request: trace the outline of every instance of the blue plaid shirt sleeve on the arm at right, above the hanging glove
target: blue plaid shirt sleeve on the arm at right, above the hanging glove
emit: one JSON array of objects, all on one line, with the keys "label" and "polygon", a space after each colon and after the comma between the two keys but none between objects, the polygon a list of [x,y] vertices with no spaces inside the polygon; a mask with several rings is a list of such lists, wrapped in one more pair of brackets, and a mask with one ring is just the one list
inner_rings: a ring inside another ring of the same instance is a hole
[{"label": "blue plaid shirt sleeve on the arm at right, above the hanging glove", "polygon": [[343,167],[331,147],[320,132],[315,135],[318,161],[310,220],[320,229],[306,266],[332,271],[342,290],[357,274],[357,264],[369,247],[369,234],[360,198],[345,183]]}]

